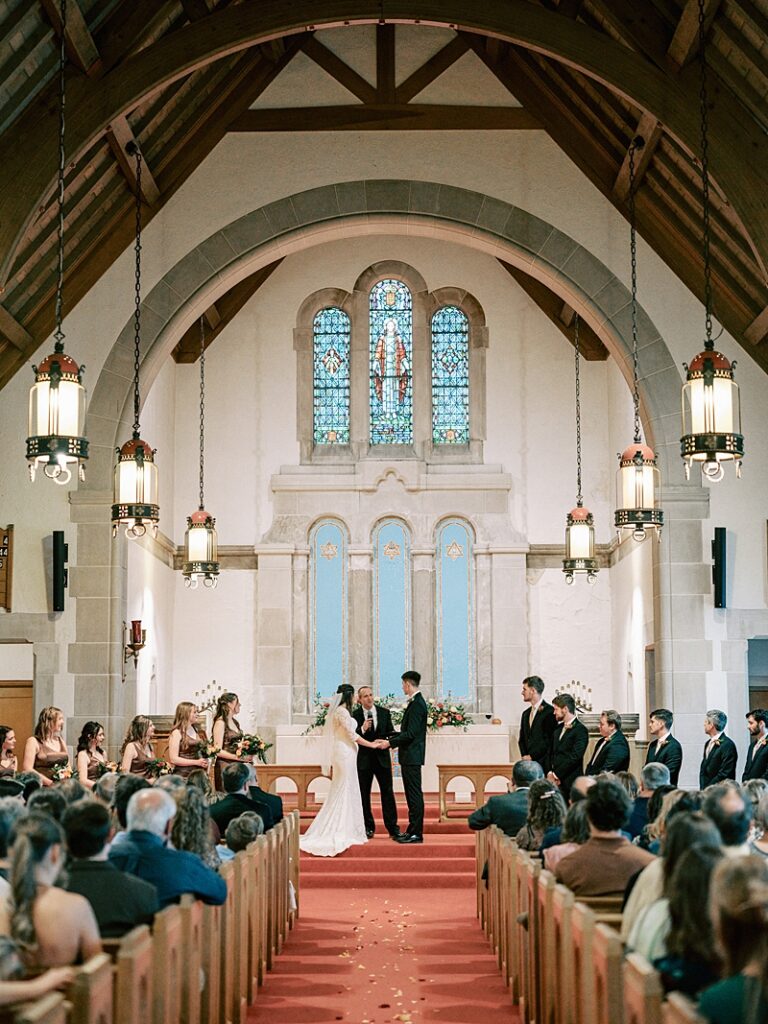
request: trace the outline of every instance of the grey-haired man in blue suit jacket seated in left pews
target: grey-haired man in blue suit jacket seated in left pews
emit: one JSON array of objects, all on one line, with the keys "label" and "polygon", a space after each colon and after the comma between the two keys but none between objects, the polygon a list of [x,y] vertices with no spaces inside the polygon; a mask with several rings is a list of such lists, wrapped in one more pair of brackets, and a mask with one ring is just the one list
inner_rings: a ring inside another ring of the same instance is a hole
[{"label": "grey-haired man in blue suit jacket seated in left pews", "polygon": [[158,890],[161,908],[178,903],[184,893],[191,893],[204,903],[223,903],[223,880],[197,854],[167,847],[175,814],[173,797],[163,790],[147,787],[134,793],[128,802],[128,830],[122,843],[113,843],[110,861],[152,883]]}]

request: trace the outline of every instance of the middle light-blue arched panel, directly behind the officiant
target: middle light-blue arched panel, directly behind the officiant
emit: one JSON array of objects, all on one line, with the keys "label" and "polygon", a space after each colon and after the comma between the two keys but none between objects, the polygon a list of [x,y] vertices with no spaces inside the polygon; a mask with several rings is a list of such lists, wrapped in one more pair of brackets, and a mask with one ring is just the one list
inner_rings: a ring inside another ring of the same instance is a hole
[{"label": "middle light-blue arched panel, directly behind the officiant", "polygon": [[411,534],[399,519],[374,530],[374,688],[397,692],[411,668]]}]

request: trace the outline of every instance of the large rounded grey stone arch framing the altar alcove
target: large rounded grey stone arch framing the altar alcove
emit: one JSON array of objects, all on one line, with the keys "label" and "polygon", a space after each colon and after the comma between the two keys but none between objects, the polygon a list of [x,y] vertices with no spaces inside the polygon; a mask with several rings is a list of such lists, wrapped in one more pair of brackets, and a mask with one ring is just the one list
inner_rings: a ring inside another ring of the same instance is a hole
[{"label": "large rounded grey stone arch framing the altar alcove", "polygon": [[[545,283],[596,331],[631,379],[630,293],[589,250],[552,224],[498,199],[428,181],[364,180],[323,185],[254,210],[216,231],[169,269],[142,303],[142,391],[203,311],[259,267],[334,239],[407,231],[460,241],[502,257]],[[366,274],[390,272],[387,261]],[[413,268],[406,267],[413,280]],[[360,284],[362,282],[360,281]],[[356,288],[356,285],[355,285]],[[681,376],[650,317],[638,307],[641,415],[665,481],[683,483],[678,456]],[[126,360],[129,321],[99,374],[89,406],[87,487],[111,486],[113,453],[131,416]]]}]

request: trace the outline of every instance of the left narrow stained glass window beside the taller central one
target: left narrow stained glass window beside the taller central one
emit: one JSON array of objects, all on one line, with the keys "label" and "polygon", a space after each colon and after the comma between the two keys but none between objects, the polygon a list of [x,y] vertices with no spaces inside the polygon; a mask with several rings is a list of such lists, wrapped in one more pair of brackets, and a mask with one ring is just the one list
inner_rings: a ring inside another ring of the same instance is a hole
[{"label": "left narrow stained glass window beside the taller central one", "polygon": [[313,324],[314,443],[349,443],[349,317],[321,309]]}]

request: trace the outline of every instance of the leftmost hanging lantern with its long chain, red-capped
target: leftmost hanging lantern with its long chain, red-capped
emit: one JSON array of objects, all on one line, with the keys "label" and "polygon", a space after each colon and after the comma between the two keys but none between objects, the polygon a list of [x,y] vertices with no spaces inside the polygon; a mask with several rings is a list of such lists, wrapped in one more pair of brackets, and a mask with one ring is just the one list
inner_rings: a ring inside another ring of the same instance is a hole
[{"label": "leftmost hanging lantern with its long chain, red-capped", "polygon": [[72,469],[85,479],[85,462],[88,459],[88,441],[85,438],[85,388],[83,371],[63,350],[62,322],[63,294],[63,229],[65,229],[65,70],[67,65],[66,28],[67,0],[59,6],[61,35],[58,51],[58,270],[56,276],[56,328],[53,333],[53,352],[32,369],[35,383],[30,389],[29,436],[27,459],[30,479],[37,469],[56,483],[66,484],[72,479]]}]

